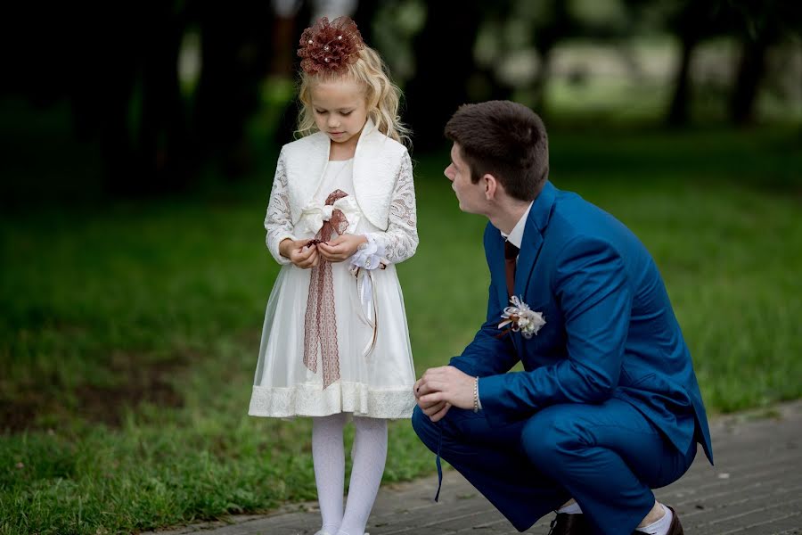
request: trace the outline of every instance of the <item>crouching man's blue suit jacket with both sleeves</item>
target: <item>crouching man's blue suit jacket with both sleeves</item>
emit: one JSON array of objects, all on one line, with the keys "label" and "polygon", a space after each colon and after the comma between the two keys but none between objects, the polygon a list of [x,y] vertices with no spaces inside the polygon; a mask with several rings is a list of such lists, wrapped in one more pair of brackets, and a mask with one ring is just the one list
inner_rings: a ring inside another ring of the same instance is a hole
[{"label": "crouching man's blue suit jacket with both sleeves", "polygon": [[[487,321],[451,365],[476,375],[490,424],[558,403],[618,398],[642,412],[682,452],[710,432],[691,355],[651,255],[616,218],[550,182],[529,210],[515,294],[545,325],[526,340],[498,339],[509,305],[504,239],[490,224]],[[518,361],[525,371],[506,373]]]}]

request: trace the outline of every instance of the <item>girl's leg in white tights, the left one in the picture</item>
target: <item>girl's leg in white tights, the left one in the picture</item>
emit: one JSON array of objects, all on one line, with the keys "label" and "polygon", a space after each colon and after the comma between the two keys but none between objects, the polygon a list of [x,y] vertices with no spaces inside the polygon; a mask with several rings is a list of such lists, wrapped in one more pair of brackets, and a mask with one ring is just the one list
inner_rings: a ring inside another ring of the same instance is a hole
[{"label": "girl's leg in white tights, the left one in the picture", "polygon": [[317,501],[323,516],[322,531],[334,535],[342,523],[342,491],[345,485],[345,453],[342,428],[346,415],[312,418],[312,459],[315,462]]}]

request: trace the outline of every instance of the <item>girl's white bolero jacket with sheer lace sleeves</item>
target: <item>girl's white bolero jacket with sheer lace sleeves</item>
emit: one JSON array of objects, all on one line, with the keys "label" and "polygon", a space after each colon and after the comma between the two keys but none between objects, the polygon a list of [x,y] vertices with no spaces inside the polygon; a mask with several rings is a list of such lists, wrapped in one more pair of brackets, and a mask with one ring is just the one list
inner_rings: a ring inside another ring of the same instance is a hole
[{"label": "girl's white bolero jacket with sheer lace sleeves", "polygon": [[[301,211],[311,201],[329,162],[329,137],[322,132],[282,147],[267,207],[267,249],[280,264],[279,243],[293,235]],[[370,237],[384,246],[384,258],[397,264],[418,247],[412,161],[406,147],[376,128],[364,125],[354,154],[354,194],[364,217],[384,232]]]}]

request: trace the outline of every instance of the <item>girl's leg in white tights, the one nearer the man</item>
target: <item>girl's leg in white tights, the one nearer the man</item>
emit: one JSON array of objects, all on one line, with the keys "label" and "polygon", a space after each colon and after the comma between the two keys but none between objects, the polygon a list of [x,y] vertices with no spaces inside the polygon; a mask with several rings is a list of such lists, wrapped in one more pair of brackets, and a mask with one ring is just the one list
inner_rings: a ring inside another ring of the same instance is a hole
[{"label": "girl's leg in white tights, the one nearer the man", "polygon": [[387,459],[387,420],[355,417],[354,465],[339,535],[363,535]]}]

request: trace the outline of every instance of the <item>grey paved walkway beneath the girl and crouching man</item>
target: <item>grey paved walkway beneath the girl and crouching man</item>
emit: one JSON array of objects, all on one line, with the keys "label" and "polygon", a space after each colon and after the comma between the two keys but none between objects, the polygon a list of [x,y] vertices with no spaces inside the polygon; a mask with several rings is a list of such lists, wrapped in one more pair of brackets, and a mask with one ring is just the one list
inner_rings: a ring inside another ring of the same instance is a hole
[{"label": "grey paved walkway beneath the girl and crouching man", "polygon": [[[713,422],[716,466],[699,452],[680,481],[656,491],[674,506],[688,535],[802,534],[802,402],[765,414]],[[432,458],[432,463],[434,459]],[[454,470],[447,470],[440,502],[437,477],[385,485],[373,507],[371,535],[506,535],[518,533]],[[545,535],[551,515],[527,533]],[[235,516],[231,523],[197,524],[150,535],[311,535],[319,528],[315,504],[267,516]]]}]

